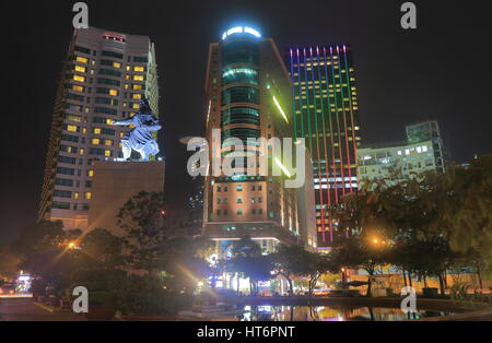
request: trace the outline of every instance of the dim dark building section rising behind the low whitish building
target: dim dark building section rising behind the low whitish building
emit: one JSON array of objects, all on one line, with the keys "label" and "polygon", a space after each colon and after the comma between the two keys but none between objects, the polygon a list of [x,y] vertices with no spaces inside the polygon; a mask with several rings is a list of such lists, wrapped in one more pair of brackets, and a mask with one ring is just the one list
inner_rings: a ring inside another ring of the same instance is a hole
[{"label": "dim dark building section rising behind the low whitish building", "polygon": [[441,134],[440,125],[437,120],[429,120],[424,122],[413,123],[407,126],[407,140],[409,143],[420,143],[432,141],[432,150],[436,161],[436,170],[440,173],[446,172],[447,167],[447,152],[444,146],[443,137]]}]

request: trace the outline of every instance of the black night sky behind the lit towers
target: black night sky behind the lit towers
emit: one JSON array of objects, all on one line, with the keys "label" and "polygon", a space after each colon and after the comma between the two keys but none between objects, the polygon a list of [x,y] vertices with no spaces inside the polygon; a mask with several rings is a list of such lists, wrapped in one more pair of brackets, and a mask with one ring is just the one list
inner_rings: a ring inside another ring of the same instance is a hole
[{"label": "black night sky behind the lit towers", "polygon": [[[0,4],[0,244],[36,220],[75,1],[9,2],[19,4]],[[258,28],[281,51],[296,45],[352,45],[365,143],[401,141],[405,125],[437,119],[454,161],[492,152],[492,25],[484,1],[414,1],[417,31],[400,27],[403,0],[85,2],[91,26],[149,35],[156,44],[160,143],[171,202],[184,203],[189,189],[188,155],[178,140],[204,130],[208,46],[236,24]]]}]

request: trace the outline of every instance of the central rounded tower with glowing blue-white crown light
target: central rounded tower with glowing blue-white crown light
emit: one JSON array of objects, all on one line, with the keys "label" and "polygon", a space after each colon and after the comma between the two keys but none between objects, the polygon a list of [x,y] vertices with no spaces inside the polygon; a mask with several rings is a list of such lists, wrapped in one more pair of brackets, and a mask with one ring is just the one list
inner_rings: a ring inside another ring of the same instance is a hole
[{"label": "central rounded tower with glowing blue-white crown light", "polygon": [[[225,143],[210,149],[211,158],[258,156],[260,147],[248,145],[247,139],[292,137],[289,72],[271,38],[243,26],[224,33],[210,46],[206,88],[208,141]],[[220,142],[213,130],[220,130]],[[242,140],[245,152],[232,151],[229,138]],[[260,175],[257,165],[246,166]],[[206,178],[203,234],[216,241],[219,258],[227,256],[231,241],[245,236],[266,252],[300,240],[295,189],[284,187],[284,176],[248,175]]]}]

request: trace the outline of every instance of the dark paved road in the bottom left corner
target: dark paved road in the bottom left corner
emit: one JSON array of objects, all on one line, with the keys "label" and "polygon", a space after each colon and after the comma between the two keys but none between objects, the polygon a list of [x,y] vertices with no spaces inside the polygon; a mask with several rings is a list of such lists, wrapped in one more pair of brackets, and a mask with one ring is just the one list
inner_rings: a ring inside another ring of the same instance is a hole
[{"label": "dark paved road in the bottom left corner", "polygon": [[50,312],[33,304],[32,298],[0,299],[0,321],[86,321],[71,312]]}]

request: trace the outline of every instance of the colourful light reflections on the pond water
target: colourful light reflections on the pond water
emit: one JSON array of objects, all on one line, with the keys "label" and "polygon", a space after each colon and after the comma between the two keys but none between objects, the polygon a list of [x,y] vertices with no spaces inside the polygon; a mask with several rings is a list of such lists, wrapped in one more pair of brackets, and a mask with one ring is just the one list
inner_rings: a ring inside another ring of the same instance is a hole
[{"label": "colourful light reflections on the pond water", "polygon": [[401,321],[449,316],[448,312],[420,310],[405,315],[399,308],[327,306],[246,306],[242,321]]}]

